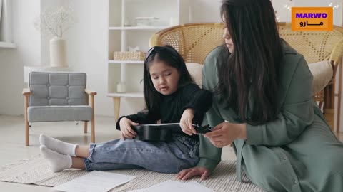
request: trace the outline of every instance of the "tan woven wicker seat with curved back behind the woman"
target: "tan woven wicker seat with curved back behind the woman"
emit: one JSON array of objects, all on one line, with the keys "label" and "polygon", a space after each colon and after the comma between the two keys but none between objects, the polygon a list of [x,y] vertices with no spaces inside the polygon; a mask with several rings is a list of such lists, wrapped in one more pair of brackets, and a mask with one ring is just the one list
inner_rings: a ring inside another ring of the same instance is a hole
[{"label": "tan woven wicker seat with curved back behind the woman", "polygon": [[[295,50],[304,55],[307,63],[329,60],[332,65],[332,80],[324,90],[314,95],[319,102],[324,117],[334,129],[334,97],[337,103],[337,132],[341,104],[342,76],[339,75],[339,90],[335,95],[334,84],[336,71],[342,64],[343,28],[334,26],[333,31],[292,31],[291,23],[278,23],[279,33]],[[166,28],[150,38],[150,46],[171,45],[182,55],[186,63],[203,63],[207,54],[216,46],[224,43],[222,23],[189,23]]]}]

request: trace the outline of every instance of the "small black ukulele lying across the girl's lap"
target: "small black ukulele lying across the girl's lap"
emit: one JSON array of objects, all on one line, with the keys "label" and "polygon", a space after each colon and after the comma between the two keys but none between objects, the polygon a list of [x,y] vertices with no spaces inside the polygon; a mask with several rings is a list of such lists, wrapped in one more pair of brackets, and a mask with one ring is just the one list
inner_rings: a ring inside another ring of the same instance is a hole
[{"label": "small black ukulele lying across the girl's lap", "polygon": [[[205,134],[211,132],[212,128],[207,126],[200,126],[193,124],[197,134]],[[179,123],[167,123],[167,124],[139,124],[132,126],[132,129],[137,133],[134,139],[142,141],[166,141],[172,137],[172,133],[183,133]]]}]

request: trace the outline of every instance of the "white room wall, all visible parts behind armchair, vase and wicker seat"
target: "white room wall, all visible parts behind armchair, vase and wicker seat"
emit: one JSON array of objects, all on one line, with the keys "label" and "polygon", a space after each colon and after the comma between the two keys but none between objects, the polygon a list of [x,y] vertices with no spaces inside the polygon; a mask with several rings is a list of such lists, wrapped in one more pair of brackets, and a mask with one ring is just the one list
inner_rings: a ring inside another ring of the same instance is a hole
[{"label": "white room wall, all visible parts behind armchair, vase and wicker seat", "polygon": [[[288,0],[273,1],[282,21],[290,15],[282,10]],[[297,0],[297,6],[327,6],[327,1]],[[14,42],[16,49],[0,48],[0,114],[22,114],[24,99],[24,65],[49,64],[49,39],[34,29],[34,18],[49,6],[67,4],[67,0],[13,0]],[[88,87],[96,90],[96,114],[113,116],[114,105],[107,92],[107,0],[74,0],[79,18],[66,33],[69,65],[88,75]],[[220,22],[219,0],[190,0],[190,22]],[[28,9],[29,8],[29,9]],[[19,19],[20,18],[20,19]],[[334,24],[342,23],[342,4],[334,11]],[[8,82],[11,82],[10,84]],[[127,99],[121,103],[121,113],[128,114],[143,107],[141,100]],[[343,112],[341,119],[343,117]]]}]

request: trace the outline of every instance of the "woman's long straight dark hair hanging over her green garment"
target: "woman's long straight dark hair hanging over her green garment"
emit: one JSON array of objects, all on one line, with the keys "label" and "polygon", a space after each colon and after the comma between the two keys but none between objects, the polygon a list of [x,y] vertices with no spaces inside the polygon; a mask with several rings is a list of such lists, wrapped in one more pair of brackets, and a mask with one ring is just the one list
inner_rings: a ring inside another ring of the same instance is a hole
[{"label": "woman's long straight dark hair hanging over her green garment", "polygon": [[[282,40],[270,0],[223,0],[220,14],[234,44],[218,65],[215,91],[226,107],[249,124],[264,124],[279,113],[277,90]],[[249,102],[250,101],[250,102]]]}]

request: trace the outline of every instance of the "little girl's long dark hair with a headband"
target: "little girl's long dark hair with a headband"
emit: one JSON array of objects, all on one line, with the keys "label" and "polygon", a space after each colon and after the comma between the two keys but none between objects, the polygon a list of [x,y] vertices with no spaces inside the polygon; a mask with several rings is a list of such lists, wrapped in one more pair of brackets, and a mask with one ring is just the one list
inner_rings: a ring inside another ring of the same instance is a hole
[{"label": "little girl's long dark hair with a headband", "polygon": [[177,69],[180,77],[177,87],[178,89],[194,82],[187,70],[184,59],[172,46],[154,46],[148,51],[148,53],[146,53],[143,74],[144,100],[149,117],[152,119],[159,119],[161,118],[159,111],[161,104],[161,93],[155,89],[149,73],[149,67],[152,63],[154,63],[155,60],[163,61],[166,65]]}]

